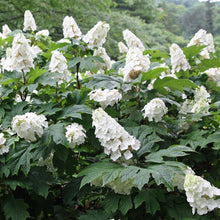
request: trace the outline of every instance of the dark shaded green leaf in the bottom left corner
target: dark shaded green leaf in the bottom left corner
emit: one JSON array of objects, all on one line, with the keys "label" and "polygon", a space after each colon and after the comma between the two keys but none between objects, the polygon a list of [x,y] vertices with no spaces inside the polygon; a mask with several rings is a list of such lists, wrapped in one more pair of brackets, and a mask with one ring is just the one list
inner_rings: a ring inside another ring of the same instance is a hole
[{"label": "dark shaded green leaf in the bottom left corner", "polygon": [[23,199],[16,199],[13,196],[8,196],[2,204],[6,219],[25,220],[30,217],[28,213],[28,204]]}]

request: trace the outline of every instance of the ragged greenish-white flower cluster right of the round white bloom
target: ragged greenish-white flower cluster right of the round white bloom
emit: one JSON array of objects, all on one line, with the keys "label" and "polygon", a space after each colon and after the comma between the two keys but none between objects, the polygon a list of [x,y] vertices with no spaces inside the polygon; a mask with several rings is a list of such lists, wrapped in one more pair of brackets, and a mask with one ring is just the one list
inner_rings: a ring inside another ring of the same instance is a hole
[{"label": "ragged greenish-white flower cluster right of the round white bloom", "polygon": [[194,100],[186,99],[180,109],[180,113],[208,113],[210,94],[204,86],[196,89]]}]

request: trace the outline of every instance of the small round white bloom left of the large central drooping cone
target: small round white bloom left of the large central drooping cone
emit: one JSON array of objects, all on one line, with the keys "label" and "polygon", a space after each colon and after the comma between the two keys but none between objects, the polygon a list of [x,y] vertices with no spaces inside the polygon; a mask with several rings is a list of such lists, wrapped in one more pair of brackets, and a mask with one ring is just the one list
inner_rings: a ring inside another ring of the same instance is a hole
[{"label": "small round white bloom left of the large central drooping cone", "polygon": [[86,134],[82,125],[73,123],[66,127],[66,138],[71,148],[85,142]]}]

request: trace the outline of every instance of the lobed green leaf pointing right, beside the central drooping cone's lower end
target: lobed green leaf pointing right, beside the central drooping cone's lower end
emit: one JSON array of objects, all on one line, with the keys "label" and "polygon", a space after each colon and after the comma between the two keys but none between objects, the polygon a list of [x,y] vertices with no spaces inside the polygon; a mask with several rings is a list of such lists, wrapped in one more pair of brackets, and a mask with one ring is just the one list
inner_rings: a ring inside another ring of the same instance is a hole
[{"label": "lobed green leaf pointing right, beside the central drooping cone's lower end", "polygon": [[154,162],[154,163],[162,163],[163,157],[183,157],[186,156],[185,152],[192,152],[193,150],[190,147],[186,146],[170,146],[167,149],[159,150],[157,152],[150,153],[145,157],[145,162]]}]

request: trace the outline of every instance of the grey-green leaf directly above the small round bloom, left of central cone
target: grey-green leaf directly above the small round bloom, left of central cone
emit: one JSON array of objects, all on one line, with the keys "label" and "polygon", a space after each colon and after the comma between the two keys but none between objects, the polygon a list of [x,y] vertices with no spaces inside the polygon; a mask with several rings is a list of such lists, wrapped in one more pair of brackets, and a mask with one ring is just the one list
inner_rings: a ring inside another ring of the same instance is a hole
[{"label": "grey-green leaf directly above the small round bloom, left of central cone", "polygon": [[63,109],[63,111],[59,115],[59,118],[62,119],[62,118],[72,117],[72,118],[82,119],[81,117],[82,113],[91,115],[92,109],[87,105],[68,106]]}]

